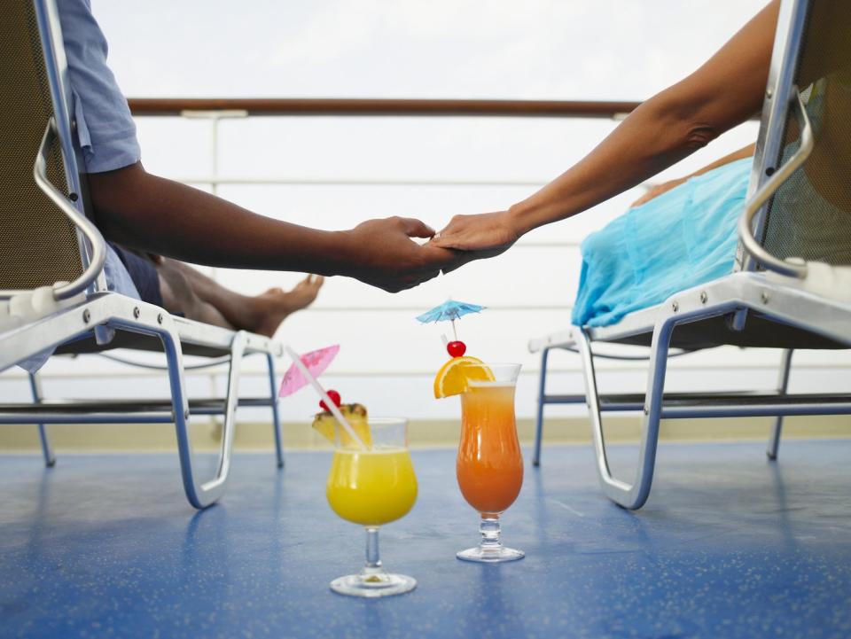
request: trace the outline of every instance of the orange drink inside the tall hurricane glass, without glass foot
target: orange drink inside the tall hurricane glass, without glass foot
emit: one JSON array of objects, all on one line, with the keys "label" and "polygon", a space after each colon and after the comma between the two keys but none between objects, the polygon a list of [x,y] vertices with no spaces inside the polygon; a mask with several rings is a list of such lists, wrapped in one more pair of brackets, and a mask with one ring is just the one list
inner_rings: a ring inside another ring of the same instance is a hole
[{"label": "orange drink inside the tall hurricane glass, without glass foot", "polygon": [[514,386],[472,382],[461,395],[461,406],[458,486],[482,516],[498,516],[514,503],[523,484]]}]

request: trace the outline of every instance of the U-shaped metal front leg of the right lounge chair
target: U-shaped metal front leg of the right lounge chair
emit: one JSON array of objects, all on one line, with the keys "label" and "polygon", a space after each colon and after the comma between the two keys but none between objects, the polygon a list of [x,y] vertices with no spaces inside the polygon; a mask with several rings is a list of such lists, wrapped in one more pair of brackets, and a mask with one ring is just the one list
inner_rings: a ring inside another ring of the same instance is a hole
[{"label": "U-shaped metal front leg of the right lounge chair", "polygon": [[644,417],[641,429],[641,446],[638,455],[636,479],[628,484],[616,479],[609,469],[605,454],[603,420],[600,411],[600,399],[597,393],[597,376],[594,371],[594,356],[591,353],[588,333],[579,333],[578,343],[582,355],[582,369],[585,377],[585,392],[591,417],[591,432],[594,437],[594,454],[597,458],[597,477],[605,495],[614,503],[629,510],[641,508],[650,495],[653,471],[656,464],[656,448],[659,443],[659,423],[662,411],[662,391],[665,387],[665,373],[668,368],[668,346],[673,325],[663,323],[653,331],[651,345],[650,370],[647,376],[647,394],[644,399]]}]

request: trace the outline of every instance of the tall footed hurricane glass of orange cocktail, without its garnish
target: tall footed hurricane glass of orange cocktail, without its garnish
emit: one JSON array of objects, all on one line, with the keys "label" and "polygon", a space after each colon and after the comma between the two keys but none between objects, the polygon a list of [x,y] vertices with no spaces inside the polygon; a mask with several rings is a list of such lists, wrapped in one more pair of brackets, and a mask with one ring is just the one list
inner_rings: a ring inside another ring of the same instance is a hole
[{"label": "tall footed hurricane glass of orange cocktail, without its garnish", "polygon": [[[469,368],[474,368],[472,364]],[[465,500],[481,516],[480,545],[457,553],[465,561],[521,559],[520,550],[499,541],[499,517],[523,485],[523,456],[514,418],[514,386],[519,364],[480,364],[461,395],[461,441],[456,472]]]}]

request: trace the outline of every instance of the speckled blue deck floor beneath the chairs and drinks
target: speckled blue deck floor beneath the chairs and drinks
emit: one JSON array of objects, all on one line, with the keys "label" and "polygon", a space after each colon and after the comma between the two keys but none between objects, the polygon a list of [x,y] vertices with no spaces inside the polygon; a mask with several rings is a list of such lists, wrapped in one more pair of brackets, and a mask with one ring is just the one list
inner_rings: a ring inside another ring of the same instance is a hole
[{"label": "speckled blue deck floor beneath the chairs and drinks", "polygon": [[[615,451],[618,458],[627,449]],[[450,450],[415,451],[420,498],[382,531],[409,595],[362,601],[328,582],[363,534],[324,499],[330,456],[238,455],[196,513],[175,455],[0,456],[0,635],[27,637],[848,637],[851,440],[666,445],[649,503],[597,488],[589,448],[527,467],[506,565],[476,542]]]}]

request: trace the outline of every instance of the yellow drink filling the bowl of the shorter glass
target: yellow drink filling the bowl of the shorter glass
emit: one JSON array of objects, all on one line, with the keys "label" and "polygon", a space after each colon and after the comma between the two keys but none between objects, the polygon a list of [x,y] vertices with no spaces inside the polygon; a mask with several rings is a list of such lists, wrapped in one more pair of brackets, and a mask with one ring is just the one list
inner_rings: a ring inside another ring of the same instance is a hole
[{"label": "yellow drink filling the bowl of the shorter glass", "polygon": [[417,501],[417,477],[405,448],[334,453],[325,495],[334,512],[361,526],[402,518]]}]

